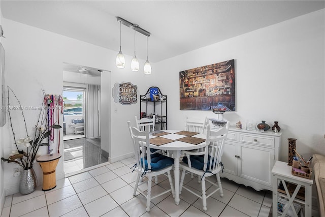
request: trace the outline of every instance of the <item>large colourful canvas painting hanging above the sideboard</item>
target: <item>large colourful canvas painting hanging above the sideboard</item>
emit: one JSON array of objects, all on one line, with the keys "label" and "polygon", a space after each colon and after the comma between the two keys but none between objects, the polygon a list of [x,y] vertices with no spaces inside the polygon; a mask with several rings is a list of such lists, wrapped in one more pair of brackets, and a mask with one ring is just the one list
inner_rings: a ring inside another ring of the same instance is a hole
[{"label": "large colourful canvas painting hanging above the sideboard", "polygon": [[180,109],[235,111],[235,60],[179,72]]}]

